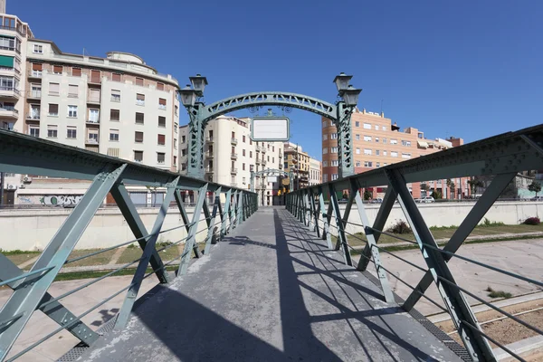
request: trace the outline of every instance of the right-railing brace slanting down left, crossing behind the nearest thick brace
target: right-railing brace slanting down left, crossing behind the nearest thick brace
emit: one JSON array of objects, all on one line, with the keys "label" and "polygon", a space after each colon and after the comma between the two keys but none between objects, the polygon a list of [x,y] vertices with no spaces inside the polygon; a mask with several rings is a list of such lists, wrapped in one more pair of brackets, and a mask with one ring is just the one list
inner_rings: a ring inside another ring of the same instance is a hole
[{"label": "right-railing brace slanting down left, crossing behind the nearest thick brace", "polygon": [[[445,244],[443,248],[444,251],[458,251],[458,249],[462,246],[462,243],[466,240],[470,233],[472,233],[475,226],[479,224],[482,217],[490,210],[498,196],[500,196],[501,192],[510,184],[511,180],[513,180],[515,176],[517,176],[517,173],[511,172],[509,174],[502,174],[494,177],[491,185],[484,191],[481,198],[477,200],[477,203],[462,221],[462,224],[460,224],[458,229],[456,229],[456,231],[452,234],[449,242]],[[443,259],[445,262],[449,262],[451,258],[452,255],[443,254]],[[416,288],[405,300],[402,307],[407,311],[413,309],[416,302],[420,300],[424,292],[430,287],[430,285],[432,285],[432,282],[432,274],[430,272],[426,272],[423,279],[419,281]]]}]

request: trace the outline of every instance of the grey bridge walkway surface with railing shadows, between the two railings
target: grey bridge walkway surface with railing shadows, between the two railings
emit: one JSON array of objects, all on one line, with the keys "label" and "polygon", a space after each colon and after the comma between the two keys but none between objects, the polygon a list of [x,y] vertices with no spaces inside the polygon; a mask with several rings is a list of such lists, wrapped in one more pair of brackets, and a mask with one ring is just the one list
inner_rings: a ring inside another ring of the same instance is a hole
[{"label": "grey bridge walkway surface with railing shadows, between the two railings", "polygon": [[85,361],[459,361],[284,207],[260,209]]}]

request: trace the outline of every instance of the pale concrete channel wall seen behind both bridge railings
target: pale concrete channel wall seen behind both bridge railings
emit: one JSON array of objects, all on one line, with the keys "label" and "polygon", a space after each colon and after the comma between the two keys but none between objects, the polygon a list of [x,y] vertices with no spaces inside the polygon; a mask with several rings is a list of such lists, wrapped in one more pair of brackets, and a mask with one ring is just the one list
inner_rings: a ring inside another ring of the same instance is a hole
[{"label": "pale concrete channel wall seen behind both bridge railings", "polygon": [[[375,220],[380,205],[366,205],[370,222]],[[463,218],[472,209],[473,203],[435,203],[421,204],[419,208],[424,220],[429,226],[459,225]],[[340,205],[341,209],[345,205]],[[158,208],[138,209],[146,225],[151,230]],[[12,250],[43,250],[52,239],[63,221],[71,213],[71,209],[30,209],[30,210],[4,210],[0,211],[0,248],[5,251]],[[192,218],[192,209],[187,209],[189,218]],[[530,216],[543,215],[543,203],[536,202],[498,202],[486,214],[492,222],[504,224],[519,224]],[[201,215],[201,220],[204,215]],[[396,220],[405,220],[399,205],[395,205],[388,218],[386,227],[395,224]],[[349,222],[361,224],[356,206],[352,208]],[[176,208],[168,211],[163,230],[183,224],[181,215]],[[335,223],[332,223],[335,224]],[[199,229],[205,228],[205,222],[199,224]],[[361,232],[362,228],[348,224],[348,233]],[[205,232],[196,235],[196,241],[205,240]],[[176,242],[186,237],[185,228],[163,233],[158,242]],[[106,248],[118,243],[134,239],[128,224],[117,209],[100,209],[83,233],[76,249]]]}]

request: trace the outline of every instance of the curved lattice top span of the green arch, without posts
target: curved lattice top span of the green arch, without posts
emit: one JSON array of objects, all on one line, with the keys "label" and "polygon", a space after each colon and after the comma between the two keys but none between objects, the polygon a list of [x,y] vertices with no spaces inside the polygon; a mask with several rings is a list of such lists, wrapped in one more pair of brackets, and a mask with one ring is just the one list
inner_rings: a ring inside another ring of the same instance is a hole
[{"label": "curved lattice top span of the green arch, without posts", "polygon": [[250,107],[286,106],[300,110],[310,110],[327,119],[336,119],[336,106],[324,100],[319,100],[303,94],[281,91],[262,91],[240,94],[225,100],[216,101],[204,106],[202,120],[214,119],[234,110],[243,110]]}]

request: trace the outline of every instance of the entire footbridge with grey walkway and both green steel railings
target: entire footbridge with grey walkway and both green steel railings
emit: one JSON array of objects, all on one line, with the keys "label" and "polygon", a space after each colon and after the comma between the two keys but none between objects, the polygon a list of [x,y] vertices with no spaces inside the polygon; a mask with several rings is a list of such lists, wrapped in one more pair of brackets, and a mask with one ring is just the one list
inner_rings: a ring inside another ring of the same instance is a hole
[{"label": "entire footbridge with grey walkway and both green steel railings", "polygon": [[[518,172],[543,169],[542,145],[543,126],[523,129],[297,190],[286,195],[286,207],[259,208],[256,195],[247,190],[0,130],[0,171],[91,181],[29,271],[0,253],[0,286],[13,291],[0,310],[0,359],[24,358],[65,329],[81,342],[63,361],[494,361],[504,354],[524,360],[518,349],[481,327],[472,305],[500,311],[529,330],[529,336],[543,331],[457,282],[448,262],[475,264],[494,272],[496,281],[514,278],[543,287],[541,275],[507,270],[506,255],[492,265],[457,253]],[[438,245],[407,185],[482,175],[492,175],[491,184],[449,242]],[[166,190],[149,229],[127,186]],[[369,220],[359,190],[374,186],[386,186],[386,195],[375,220]],[[192,214],[182,200],[184,190],[197,195]],[[344,191],[348,202],[340,207],[337,195]],[[209,192],[214,193],[212,201],[206,200]],[[70,257],[109,194],[135,238]],[[396,201],[414,240],[384,230]],[[180,223],[164,229],[171,205]],[[357,222],[351,217],[355,214]],[[363,233],[349,233],[349,224]],[[186,236],[159,246],[158,238],[174,229]],[[413,244],[421,263],[379,245],[381,235]],[[351,238],[363,242],[363,248],[355,252]],[[130,244],[141,248],[137,259],[71,291],[50,294],[64,265]],[[175,259],[161,259],[161,252],[179,245],[183,250]],[[405,262],[405,268],[391,270],[383,253]],[[127,286],[85,305],[84,311],[74,313],[62,304],[68,296],[128,270],[133,276]],[[423,274],[417,285],[409,285],[413,291],[396,295],[389,280],[405,283],[399,275],[415,270]],[[157,278],[157,286],[138,293],[149,277]],[[438,300],[429,297],[430,287],[437,290]],[[113,319],[100,329],[85,323],[93,310],[118,296],[124,300]],[[421,298],[448,313],[452,333],[445,334],[416,310]],[[19,343],[34,313],[43,313],[58,328],[33,343]],[[452,338],[454,334],[458,338]]]}]

